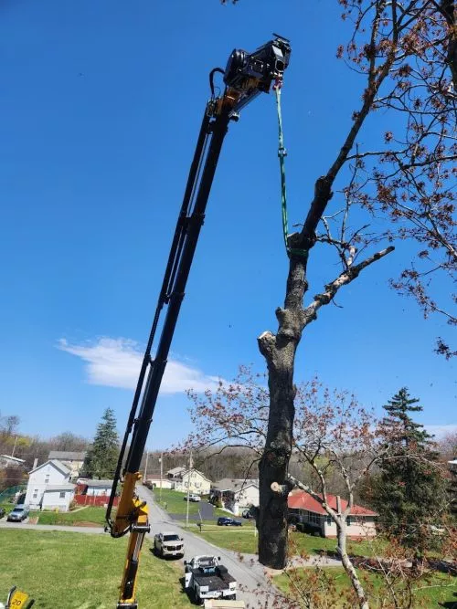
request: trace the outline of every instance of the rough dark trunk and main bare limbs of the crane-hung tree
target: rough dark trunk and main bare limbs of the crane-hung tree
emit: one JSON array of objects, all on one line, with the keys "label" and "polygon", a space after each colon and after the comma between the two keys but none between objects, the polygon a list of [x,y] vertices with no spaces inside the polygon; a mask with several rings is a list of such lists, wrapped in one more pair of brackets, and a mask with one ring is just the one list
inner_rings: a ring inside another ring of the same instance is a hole
[{"label": "rough dark trunk and main bare limbs of the crane-hung tree", "polygon": [[[351,131],[351,134],[353,131]],[[355,138],[356,134],[353,134]],[[346,145],[345,155],[351,146]],[[340,157],[338,157],[340,159]],[[343,163],[343,159],[339,160]],[[271,569],[282,569],[287,556],[287,493],[277,494],[271,485],[283,485],[287,478],[287,467],[292,454],[292,426],[294,418],[295,386],[293,370],[295,352],[306,325],[316,319],[317,310],[335,297],[338,289],[358,277],[367,266],[386,256],[394,247],[377,252],[354,267],[347,268],[334,281],[325,286],[324,292],[314,296],[311,305],[303,308],[303,297],[308,289],[306,267],[308,253],[314,246],[314,231],[325,206],[332,197],[332,173],[335,165],[325,177],[317,180],[314,201],[300,234],[289,237],[292,249],[302,249],[306,255],[290,257],[284,308],[276,310],[279,329],[276,334],[263,332],[259,349],[268,367],[270,412],[265,449],[260,459],[260,512],[259,560]],[[329,177],[330,176],[330,177]]]}]

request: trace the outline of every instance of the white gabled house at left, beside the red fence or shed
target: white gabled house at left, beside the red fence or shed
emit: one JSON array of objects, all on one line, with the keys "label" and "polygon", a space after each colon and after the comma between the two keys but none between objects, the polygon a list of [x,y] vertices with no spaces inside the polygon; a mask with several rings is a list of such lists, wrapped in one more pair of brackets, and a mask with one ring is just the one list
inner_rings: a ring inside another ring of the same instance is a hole
[{"label": "white gabled house at left, beside the red fence or shed", "polygon": [[49,459],[29,471],[26,505],[30,509],[68,511],[75,494],[75,485],[69,483],[70,473],[58,459]]}]

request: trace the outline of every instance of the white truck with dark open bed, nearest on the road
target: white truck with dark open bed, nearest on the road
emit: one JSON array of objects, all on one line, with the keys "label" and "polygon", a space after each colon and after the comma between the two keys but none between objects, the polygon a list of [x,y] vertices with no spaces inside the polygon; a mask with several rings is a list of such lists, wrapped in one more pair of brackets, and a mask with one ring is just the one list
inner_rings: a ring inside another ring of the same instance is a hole
[{"label": "white truck with dark open bed, nearest on the road", "polygon": [[209,599],[237,600],[237,582],[217,556],[194,556],[185,561],[186,591],[197,604]]}]

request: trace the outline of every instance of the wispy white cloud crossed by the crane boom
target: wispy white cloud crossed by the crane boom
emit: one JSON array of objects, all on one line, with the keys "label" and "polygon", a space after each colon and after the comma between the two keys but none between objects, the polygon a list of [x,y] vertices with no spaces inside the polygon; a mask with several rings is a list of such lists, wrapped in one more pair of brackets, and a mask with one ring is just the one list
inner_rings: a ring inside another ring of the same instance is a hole
[{"label": "wispy white cloud crossed by the crane boom", "polygon": [[[143,362],[138,343],[129,339],[101,338],[82,344],[58,341],[58,349],[76,355],[85,362],[88,383],[122,389],[134,389]],[[182,362],[168,359],[161,394],[181,394],[187,389],[197,393],[216,389],[219,379]]]}]

